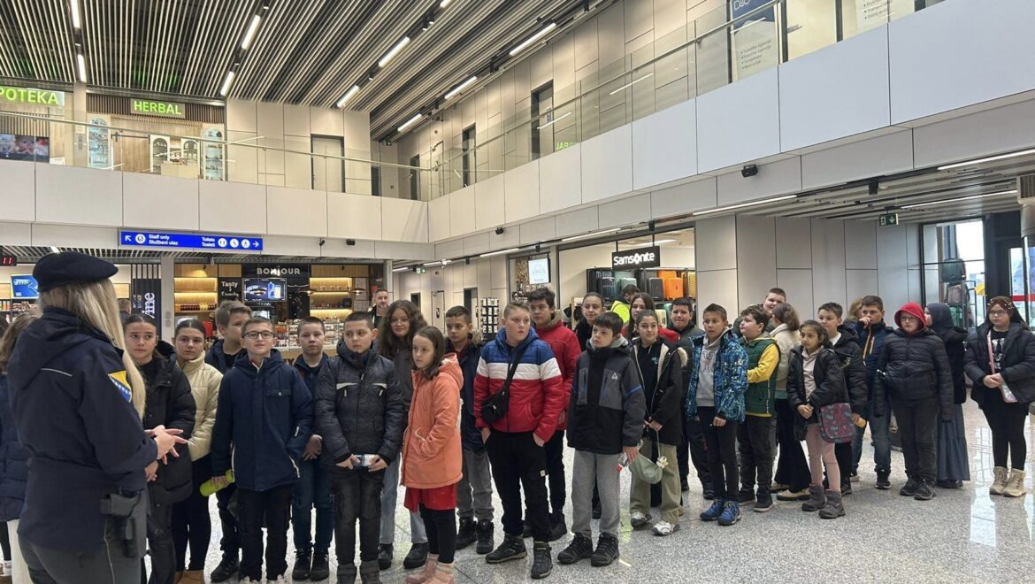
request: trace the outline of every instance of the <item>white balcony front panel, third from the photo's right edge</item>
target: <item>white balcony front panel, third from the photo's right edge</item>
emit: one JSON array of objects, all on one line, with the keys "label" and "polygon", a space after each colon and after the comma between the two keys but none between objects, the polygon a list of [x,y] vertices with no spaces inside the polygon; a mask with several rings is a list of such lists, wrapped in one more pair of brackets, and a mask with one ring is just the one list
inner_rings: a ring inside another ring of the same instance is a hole
[{"label": "white balcony front panel, third from the photo's right edge", "polygon": [[699,172],[780,151],[776,69],[705,93],[697,104]]}]

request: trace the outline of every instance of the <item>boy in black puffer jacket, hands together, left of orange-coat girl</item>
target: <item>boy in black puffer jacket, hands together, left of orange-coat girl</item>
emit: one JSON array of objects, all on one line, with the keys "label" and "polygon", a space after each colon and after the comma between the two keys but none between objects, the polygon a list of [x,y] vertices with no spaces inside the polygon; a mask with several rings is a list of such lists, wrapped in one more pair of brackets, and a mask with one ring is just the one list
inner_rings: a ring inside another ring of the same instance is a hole
[{"label": "boy in black puffer jacket, hands together, left of orange-coat girl", "polygon": [[406,424],[395,364],[371,349],[376,338],[369,313],[349,315],[337,357],[317,382],[316,429],[331,475],[337,578],[345,582],[356,577],[357,520],[359,571],[364,582],[378,576],[384,469],[400,455]]}]

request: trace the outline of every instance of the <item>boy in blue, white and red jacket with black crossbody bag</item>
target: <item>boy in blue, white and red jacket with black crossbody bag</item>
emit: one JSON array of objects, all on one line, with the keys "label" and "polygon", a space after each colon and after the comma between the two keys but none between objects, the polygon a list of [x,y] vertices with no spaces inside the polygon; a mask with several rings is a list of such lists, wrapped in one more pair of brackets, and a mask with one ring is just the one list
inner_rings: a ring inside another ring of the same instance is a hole
[{"label": "boy in blue, white and red jacket with black crossbody bag", "polygon": [[[550,513],[546,503],[546,456],[543,444],[553,438],[564,410],[567,391],[550,345],[531,327],[526,304],[509,303],[503,311],[503,328],[485,345],[474,378],[474,417],[481,431],[493,479],[503,501],[503,543],[485,556],[489,563],[524,558],[521,488],[525,488],[529,520],[534,536],[532,578],[550,576]],[[484,402],[503,388],[508,372],[506,412],[486,421],[491,408]],[[519,480],[521,481],[519,484]]]}]

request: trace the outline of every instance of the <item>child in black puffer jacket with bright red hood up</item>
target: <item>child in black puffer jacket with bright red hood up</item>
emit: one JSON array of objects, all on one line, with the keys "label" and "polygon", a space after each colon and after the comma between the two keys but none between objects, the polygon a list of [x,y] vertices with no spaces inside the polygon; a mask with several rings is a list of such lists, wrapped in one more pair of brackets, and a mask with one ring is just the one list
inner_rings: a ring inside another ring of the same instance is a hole
[{"label": "child in black puffer jacket with bright red hood up", "polygon": [[935,497],[938,450],[936,420],[952,420],[952,373],[945,345],[927,328],[923,309],[907,302],[895,313],[900,328],[884,342],[877,363],[874,415],[885,416],[885,396],[891,399],[903,437],[906,475],[904,497],[929,501]]}]

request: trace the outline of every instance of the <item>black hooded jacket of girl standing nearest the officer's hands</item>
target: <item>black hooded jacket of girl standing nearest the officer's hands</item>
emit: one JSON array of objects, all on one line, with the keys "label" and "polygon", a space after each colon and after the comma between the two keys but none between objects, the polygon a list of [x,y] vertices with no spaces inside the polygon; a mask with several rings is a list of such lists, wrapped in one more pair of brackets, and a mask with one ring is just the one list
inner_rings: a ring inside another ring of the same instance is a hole
[{"label": "black hooded jacket of girl standing nearest the officer's hands", "polygon": [[[190,438],[195,415],[198,411],[187,376],[176,367],[176,352],[165,341],[156,349],[157,369],[153,379],[146,375],[147,404],[144,406],[144,428],[165,426],[169,430],[182,430],[181,438]],[[142,372],[143,373],[143,372]],[[186,444],[176,446],[179,457],[167,457],[167,464],[158,463],[158,476],[148,485],[152,503],[178,503],[190,496],[190,452]]]}]

